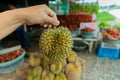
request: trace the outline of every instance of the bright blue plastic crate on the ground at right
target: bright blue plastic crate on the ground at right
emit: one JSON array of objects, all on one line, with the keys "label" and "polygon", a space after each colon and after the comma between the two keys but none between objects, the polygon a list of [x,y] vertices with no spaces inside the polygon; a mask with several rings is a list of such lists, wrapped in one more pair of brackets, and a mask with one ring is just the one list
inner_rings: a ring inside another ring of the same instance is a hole
[{"label": "bright blue plastic crate on the ground at right", "polygon": [[97,56],[101,58],[119,59],[120,50],[118,48],[105,48],[101,45],[98,47]]}]

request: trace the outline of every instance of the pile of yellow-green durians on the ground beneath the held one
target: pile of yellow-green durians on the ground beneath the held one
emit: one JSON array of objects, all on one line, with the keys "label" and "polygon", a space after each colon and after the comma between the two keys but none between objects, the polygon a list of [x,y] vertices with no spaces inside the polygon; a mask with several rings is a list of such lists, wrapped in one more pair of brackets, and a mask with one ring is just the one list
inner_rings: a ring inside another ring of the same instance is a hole
[{"label": "pile of yellow-green durians on the ground beneath the held one", "polygon": [[[67,62],[67,57],[66,59],[54,64],[49,64],[49,61],[47,61],[46,58],[43,60],[46,56],[43,56],[42,54],[38,54],[38,56],[41,60],[41,64],[39,66],[23,66],[23,68],[27,70],[27,80],[81,80],[84,70],[83,64],[85,61],[79,58],[77,54],[74,62]],[[22,69],[21,71],[25,70]],[[65,76],[60,75],[61,73]]]}]

